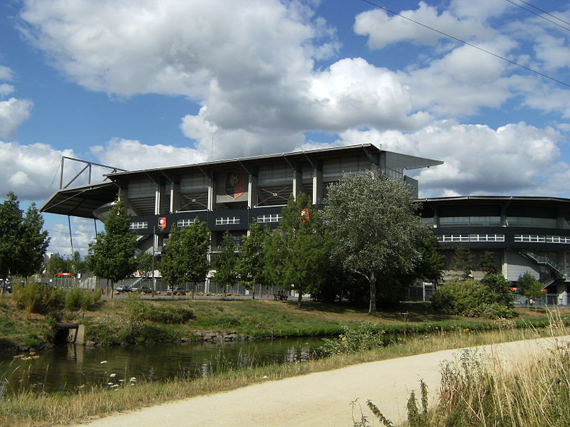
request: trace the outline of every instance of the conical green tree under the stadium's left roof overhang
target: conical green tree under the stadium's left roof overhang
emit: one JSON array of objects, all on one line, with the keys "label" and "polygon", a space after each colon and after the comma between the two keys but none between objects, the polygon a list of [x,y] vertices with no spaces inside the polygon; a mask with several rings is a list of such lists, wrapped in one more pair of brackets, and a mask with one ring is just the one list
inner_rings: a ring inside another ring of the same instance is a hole
[{"label": "conical green tree under the stadium's left roof overhang", "polygon": [[[105,221],[105,231],[97,233],[89,244],[88,265],[100,278],[111,283],[111,295],[115,283],[135,271],[135,233],[129,229],[130,218],[123,201],[115,203]],[[107,285],[108,287],[108,285]]]}]

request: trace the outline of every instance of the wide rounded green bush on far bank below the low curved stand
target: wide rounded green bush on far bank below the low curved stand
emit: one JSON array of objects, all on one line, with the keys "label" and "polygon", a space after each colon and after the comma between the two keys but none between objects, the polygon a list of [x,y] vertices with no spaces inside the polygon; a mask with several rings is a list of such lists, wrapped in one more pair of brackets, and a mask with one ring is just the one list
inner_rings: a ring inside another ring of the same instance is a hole
[{"label": "wide rounded green bush on far bank below the low curved stand", "polygon": [[448,315],[497,319],[512,317],[505,304],[510,299],[512,295],[493,290],[483,281],[467,279],[441,285],[432,295],[431,302],[434,310]]}]

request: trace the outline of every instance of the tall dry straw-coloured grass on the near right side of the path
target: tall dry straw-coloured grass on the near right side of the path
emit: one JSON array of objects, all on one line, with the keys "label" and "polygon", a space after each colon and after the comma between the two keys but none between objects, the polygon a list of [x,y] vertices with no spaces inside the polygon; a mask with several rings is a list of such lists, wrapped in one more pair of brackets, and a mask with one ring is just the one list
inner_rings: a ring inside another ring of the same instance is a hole
[{"label": "tall dry straw-coloured grass on the near right side of the path", "polygon": [[[569,333],[559,319],[550,331],[551,337]],[[465,349],[442,366],[438,401],[429,412],[423,381],[420,389],[421,409],[413,392],[408,400],[410,427],[570,426],[570,342],[556,340],[553,349],[524,352],[509,361]],[[380,423],[393,427],[373,402],[366,406]],[[371,426],[358,408],[353,426]]]}]

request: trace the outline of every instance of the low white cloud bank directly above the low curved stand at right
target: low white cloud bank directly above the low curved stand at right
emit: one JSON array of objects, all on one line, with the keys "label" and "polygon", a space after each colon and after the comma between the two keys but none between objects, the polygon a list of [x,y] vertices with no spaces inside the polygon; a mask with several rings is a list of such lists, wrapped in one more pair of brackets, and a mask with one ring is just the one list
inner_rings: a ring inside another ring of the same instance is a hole
[{"label": "low white cloud bank directly above the low curved stand at right", "polygon": [[410,134],[352,130],[341,136],[344,143],[381,143],[389,151],[443,160],[415,174],[423,196],[567,192],[562,177],[570,167],[559,161],[561,135],[550,127],[521,122],[493,130],[444,120]]}]

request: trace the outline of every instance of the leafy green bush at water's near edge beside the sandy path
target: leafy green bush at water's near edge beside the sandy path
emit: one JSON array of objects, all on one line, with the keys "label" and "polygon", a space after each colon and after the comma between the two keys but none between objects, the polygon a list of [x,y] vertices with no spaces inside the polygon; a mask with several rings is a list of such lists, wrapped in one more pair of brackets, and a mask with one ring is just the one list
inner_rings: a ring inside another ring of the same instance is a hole
[{"label": "leafy green bush at water's near edge beside the sandy path", "polygon": [[326,356],[340,353],[356,353],[375,347],[383,347],[384,330],[378,330],[371,322],[346,325],[344,333],[336,339],[323,338],[321,352]]}]

